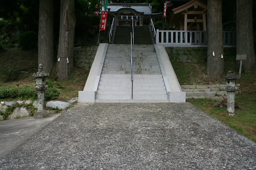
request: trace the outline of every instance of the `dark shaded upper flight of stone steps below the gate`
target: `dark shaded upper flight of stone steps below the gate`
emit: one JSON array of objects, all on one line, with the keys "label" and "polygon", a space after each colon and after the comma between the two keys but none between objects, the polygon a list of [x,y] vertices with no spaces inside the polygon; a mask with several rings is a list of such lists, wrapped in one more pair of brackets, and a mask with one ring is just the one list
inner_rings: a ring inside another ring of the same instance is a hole
[{"label": "dark shaded upper flight of stone steps below the gate", "polygon": [[[117,26],[114,44],[131,44],[132,26]],[[148,26],[134,27],[134,44],[152,44]]]}]

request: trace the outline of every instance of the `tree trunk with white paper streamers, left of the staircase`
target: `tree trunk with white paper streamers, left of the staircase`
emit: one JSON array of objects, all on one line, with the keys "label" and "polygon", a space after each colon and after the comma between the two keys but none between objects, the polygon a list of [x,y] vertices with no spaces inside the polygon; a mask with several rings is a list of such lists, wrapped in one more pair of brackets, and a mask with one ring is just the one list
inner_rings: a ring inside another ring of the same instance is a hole
[{"label": "tree trunk with white paper streamers, left of the staircase", "polygon": [[68,78],[73,70],[73,50],[75,35],[75,9],[74,0],[61,0],[60,2],[60,25],[59,45],[57,61],[57,80]]}]

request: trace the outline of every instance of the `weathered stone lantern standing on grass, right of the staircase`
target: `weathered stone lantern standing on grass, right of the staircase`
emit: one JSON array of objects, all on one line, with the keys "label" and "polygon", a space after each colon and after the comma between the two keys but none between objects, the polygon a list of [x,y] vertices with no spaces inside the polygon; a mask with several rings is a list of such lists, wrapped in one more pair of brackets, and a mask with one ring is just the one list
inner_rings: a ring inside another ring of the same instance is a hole
[{"label": "weathered stone lantern standing on grass, right of the staircase", "polygon": [[225,90],[227,91],[227,111],[230,116],[234,115],[234,96],[238,87],[236,86],[236,80],[240,79],[239,75],[234,74],[233,72],[229,71],[229,73],[223,76],[226,79],[226,87]]}]

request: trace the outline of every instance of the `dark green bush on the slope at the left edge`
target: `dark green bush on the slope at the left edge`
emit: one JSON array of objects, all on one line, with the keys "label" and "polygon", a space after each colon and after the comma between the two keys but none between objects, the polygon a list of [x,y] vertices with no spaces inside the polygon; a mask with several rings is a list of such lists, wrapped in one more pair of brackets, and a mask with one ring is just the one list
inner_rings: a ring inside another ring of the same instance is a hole
[{"label": "dark green bush on the slope at the left edge", "polygon": [[2,66],[2,68],[0,68],[0,78],[3,81],[17,80],[18,74],[19,74],[19,71],[14,66],[6,66],[6,67]]}]

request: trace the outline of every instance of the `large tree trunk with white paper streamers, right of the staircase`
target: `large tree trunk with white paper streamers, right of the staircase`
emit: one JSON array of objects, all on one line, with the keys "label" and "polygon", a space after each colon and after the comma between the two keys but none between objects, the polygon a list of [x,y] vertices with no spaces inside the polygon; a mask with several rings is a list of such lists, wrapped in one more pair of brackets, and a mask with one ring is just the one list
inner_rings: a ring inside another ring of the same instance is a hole
[{"label": "large tree trunk with white paper streamers, right of the staircase", "polygon": [[[222,29],[222,0],[209,0],[207,12],[207,75],[221,79],[224,71],[223,29]],[[215,56],[212,55],[215,52]]]}]

